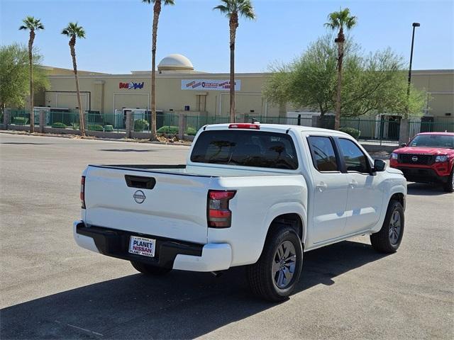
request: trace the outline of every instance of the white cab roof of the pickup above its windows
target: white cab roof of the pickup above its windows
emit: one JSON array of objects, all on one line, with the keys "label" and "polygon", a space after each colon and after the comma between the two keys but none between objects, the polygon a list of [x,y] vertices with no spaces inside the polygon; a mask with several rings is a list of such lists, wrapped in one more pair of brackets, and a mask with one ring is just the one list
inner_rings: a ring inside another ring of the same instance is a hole
[{"label": "white cab roof of the pickup above its windows", "polygon": [[[255,130],[250,128],[241,128],[242,125],[259,125],[260,130],[270,131],[270,132],[281,132],[285,133],[287,130],[291,129],[298,132],[321,132],[330,135],[342,135],[350,137],[345,132],[336,131],[336,130],[329,130],[329,129],[322,129],[322,128],[312,128],[311,126],[301,126],[301,125],[289,125],[289,124],[265,124],[265,123],[235,123],[238,124],[238,128],[229,128],[232,123],[227,124],[211,124],[205,125],[204,130]],[[258,129],[259,130],[259,129]]]}]

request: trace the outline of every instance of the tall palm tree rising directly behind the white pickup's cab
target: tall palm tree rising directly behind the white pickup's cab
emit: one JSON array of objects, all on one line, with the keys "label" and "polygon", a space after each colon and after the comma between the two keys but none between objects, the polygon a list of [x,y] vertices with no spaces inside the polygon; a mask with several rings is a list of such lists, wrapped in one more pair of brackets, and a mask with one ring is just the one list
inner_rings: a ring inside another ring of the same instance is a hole
[{"label": "tall palm tree rising directly behind the white pickup's cab", "polygon": [[221,0],[223,4],[214,7],[225,14],[230,27],[230,121],[235,123],[235,39],[238,16],[255,19],[253,4],[250,0]]}]

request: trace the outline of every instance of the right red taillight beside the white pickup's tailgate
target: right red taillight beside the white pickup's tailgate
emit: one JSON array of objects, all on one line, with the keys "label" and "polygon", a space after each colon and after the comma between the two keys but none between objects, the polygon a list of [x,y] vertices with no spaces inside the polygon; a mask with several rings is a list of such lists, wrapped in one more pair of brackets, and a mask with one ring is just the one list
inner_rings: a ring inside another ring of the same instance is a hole
[{"label": "right red taillight beside the white pickup's tailgate", "polygon": [[206,209],[208,226],[211,228],[229,228],[232,222],[232,212],[228,209],[228,201],[235,196],[236,191],[208,191],[208,206]]}]

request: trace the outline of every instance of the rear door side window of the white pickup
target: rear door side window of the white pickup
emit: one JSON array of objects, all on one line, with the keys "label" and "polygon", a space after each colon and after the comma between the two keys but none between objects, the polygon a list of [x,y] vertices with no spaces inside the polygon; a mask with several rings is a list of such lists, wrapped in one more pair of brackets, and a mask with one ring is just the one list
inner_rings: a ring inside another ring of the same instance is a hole
[{"label": "rear door side window of the white pickup", "polygon": [[319,171],[339,171],[333,143],[329,137],[308,137],[314,166]]}]

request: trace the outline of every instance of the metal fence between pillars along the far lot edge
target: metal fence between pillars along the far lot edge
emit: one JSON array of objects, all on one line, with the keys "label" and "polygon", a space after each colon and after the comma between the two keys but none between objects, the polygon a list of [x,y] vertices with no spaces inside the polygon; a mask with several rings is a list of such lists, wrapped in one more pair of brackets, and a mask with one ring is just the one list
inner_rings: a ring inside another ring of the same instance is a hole
[{"label": "metal fence between pillars along the far lot edge", "polygon": [[[264,117],[260,115],[241,115],[237,121],[252,122],[253,119],[260,123],[287,124],[312,126],[317,119],[312,117]],[[133,130],[135,132],[150,132],[150,111],[133,113]],[[39,112],[35,111],[35,125],[39,125]],[[85,113],[87,130],[105,132],[126,132],[126,114],[120,113]],[[229,123],[228,117],[213,117],[209,115],[189,115],[184,119],[184,134],[195,135],[196,132],[208,124]],[[29,125],[30,113],[26,110],[10,110],[9,124]],[[334,117],[332,115],[319,119],[321,128],[333,128]],[[45,126],[68,130],[79,130],[79,112],[56,112],[45,113]],[[177,135],[179,133],[179,115],[172,112],[158,112],[156,117],[158,134]],[[341,118],[341,130],[355,135],[360,142],[397,145],[399,142],[400,121],[374,118]],[[435,121],[425,121],[421,118],[411,118],[409,122],[409,135],[413,137],[419,132],[454,132],[454,118],[436,118]],[[358,137],[359,136],[359,137]]]}]

